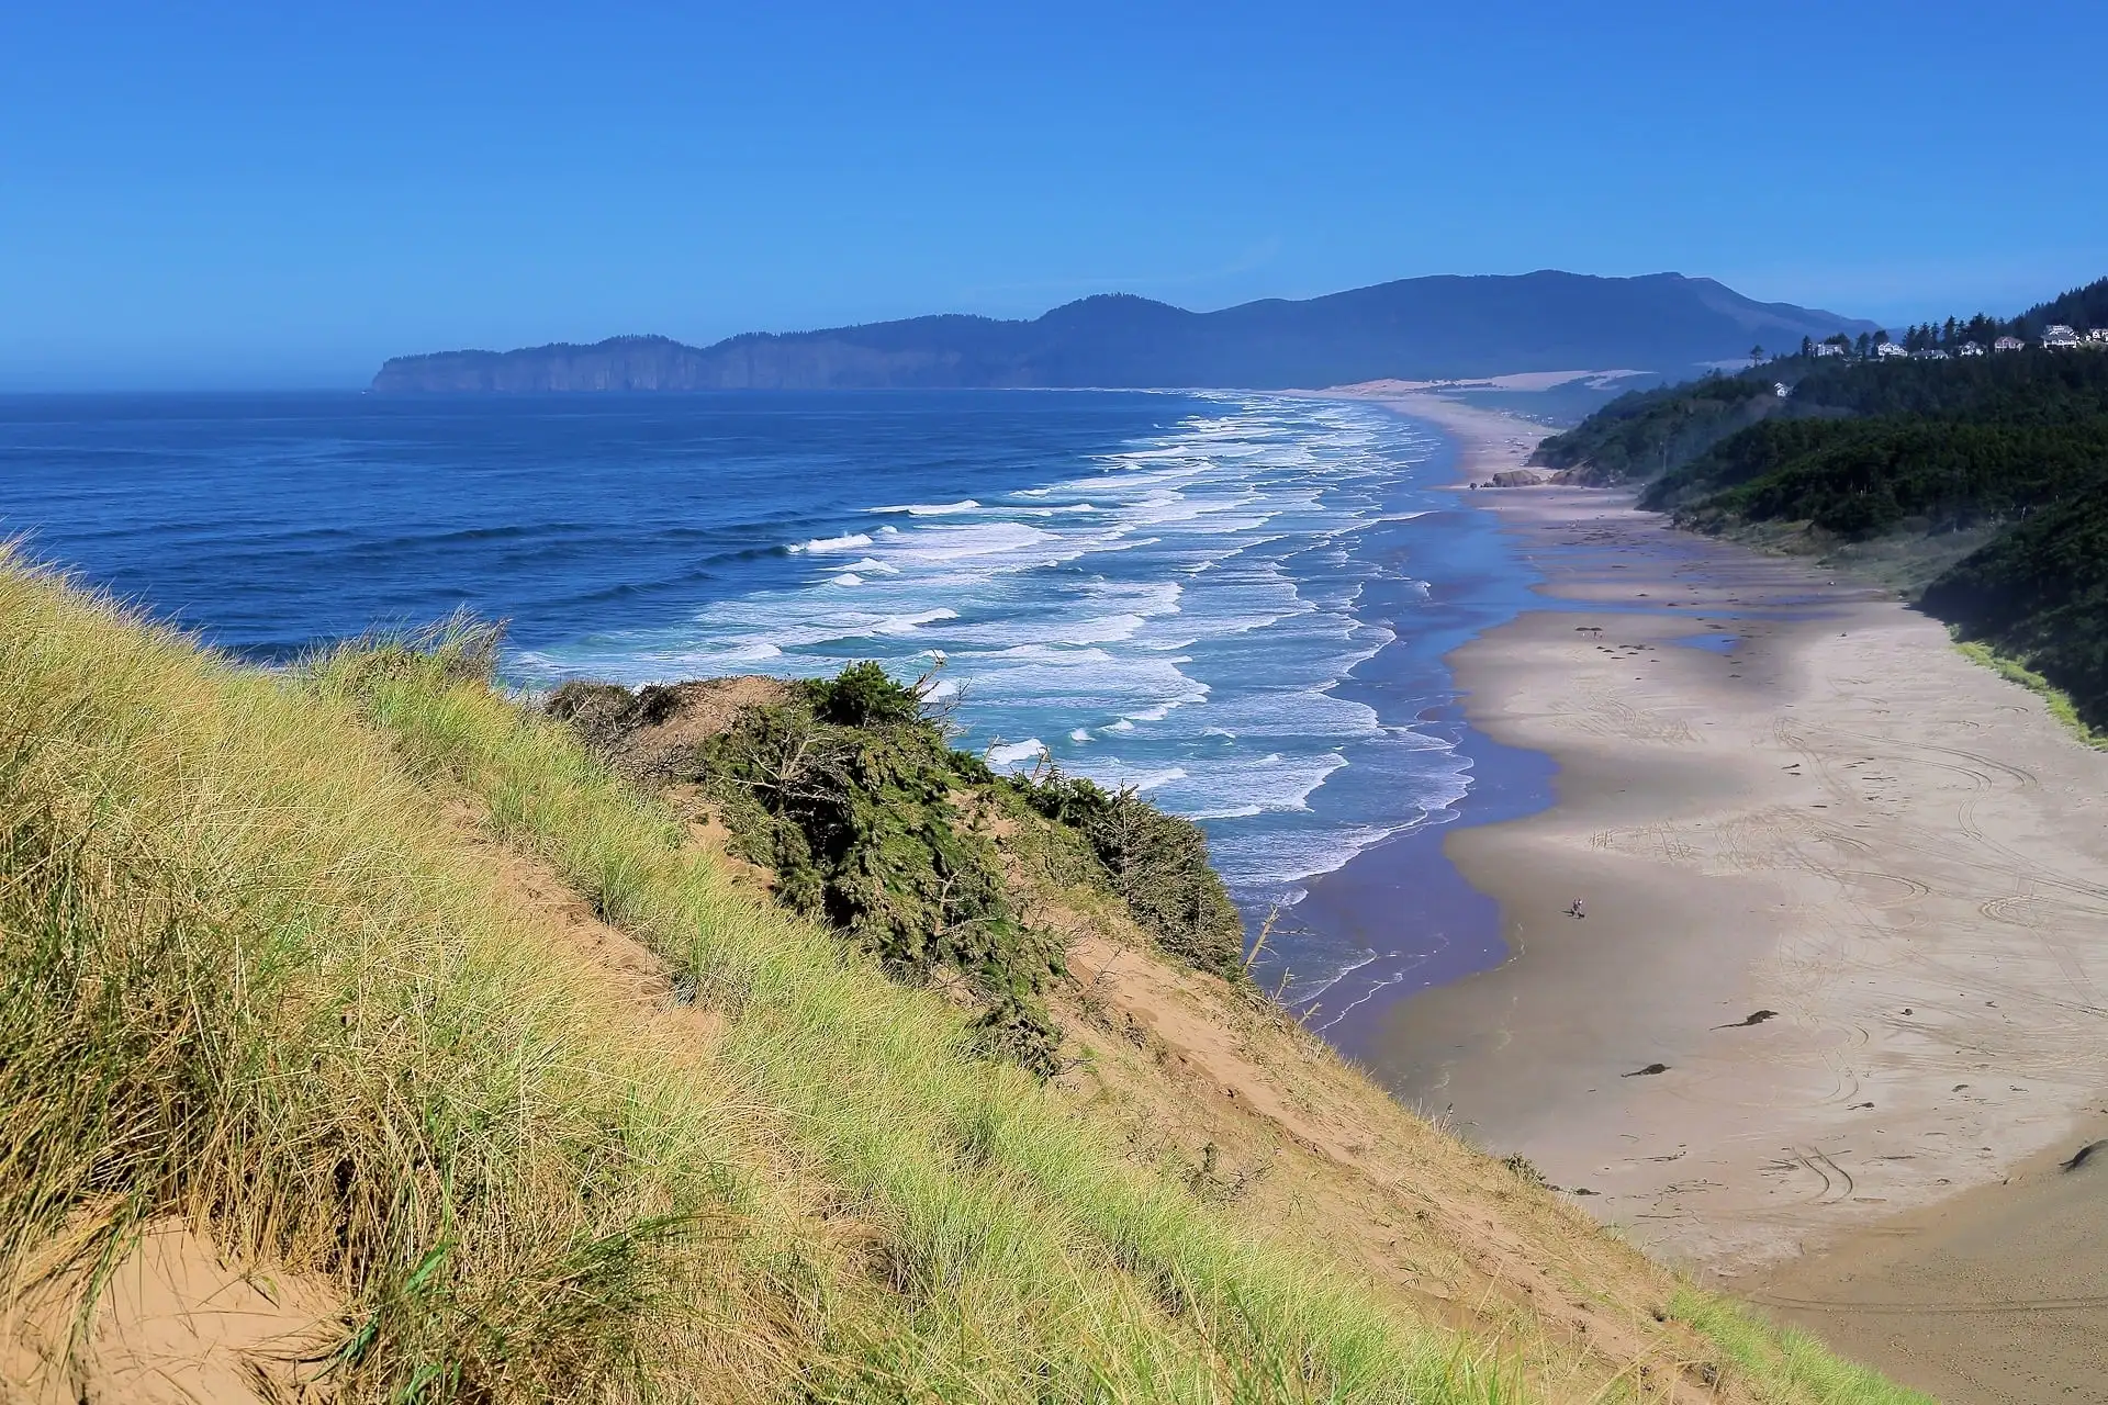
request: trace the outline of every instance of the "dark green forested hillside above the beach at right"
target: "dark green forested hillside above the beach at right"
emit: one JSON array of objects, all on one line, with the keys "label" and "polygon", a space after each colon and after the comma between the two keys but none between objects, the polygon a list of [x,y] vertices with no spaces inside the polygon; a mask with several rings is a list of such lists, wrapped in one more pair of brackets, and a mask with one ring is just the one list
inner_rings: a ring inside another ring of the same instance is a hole
[{"label": "dark green forested hillside above the beach at right", "polygon": [[2108,727],[2108,343],[2043,345],[2057,324],[2108,326],[2108,278],[1910,329],[1901,356],[1836,337],[1636,392],[1533,463],[1644,484],[1644,508],[1695,531],[1847,562],[1895,548],[1920,609]]}]

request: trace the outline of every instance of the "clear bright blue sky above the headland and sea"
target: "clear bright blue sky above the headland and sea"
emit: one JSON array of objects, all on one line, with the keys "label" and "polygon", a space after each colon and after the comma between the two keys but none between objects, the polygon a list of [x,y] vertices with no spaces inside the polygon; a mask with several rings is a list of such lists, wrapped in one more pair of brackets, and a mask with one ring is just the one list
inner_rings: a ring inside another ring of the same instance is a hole
[{"label": "clear bright blue sky above the headland and sea", "polygon": [[15,0],[0,390],[1535,268],[2015,312],[2108,274],[2102,53],[2097,0]]}]

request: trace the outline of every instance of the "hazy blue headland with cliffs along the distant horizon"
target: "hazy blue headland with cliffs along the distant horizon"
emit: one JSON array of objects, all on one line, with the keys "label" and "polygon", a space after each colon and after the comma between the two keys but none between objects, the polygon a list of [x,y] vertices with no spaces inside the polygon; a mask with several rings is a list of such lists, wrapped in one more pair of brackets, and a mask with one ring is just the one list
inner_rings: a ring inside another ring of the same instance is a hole
[{"label": "hazy blue headland with cliffs along the distant horizon", "polygon": [[1404,278],[1307,301],[1187,312],[1086,297],[1029,322],[928,316],[809,333],[668,337],[396,356],[382,392],[831,390],[873,385],[1318,388],[1381,377],[1627,367],[1686,371],[1754,343],[1798,348],[1872,322],[1758,303],[1712,278],[1537,272]]}]

